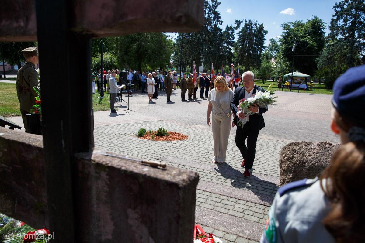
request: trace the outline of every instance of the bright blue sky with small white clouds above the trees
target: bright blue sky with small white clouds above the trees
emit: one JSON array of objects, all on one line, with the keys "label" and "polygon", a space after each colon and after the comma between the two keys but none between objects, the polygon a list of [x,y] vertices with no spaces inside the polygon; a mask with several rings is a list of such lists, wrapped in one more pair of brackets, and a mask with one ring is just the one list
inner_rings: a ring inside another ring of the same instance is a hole
[{"label": "bright blue sky with small white clouds above the trees", "polygon": [[[331,17],[334,14],[333,6],[336,2],[338,3],[339,1],[221,0],[218,11],[223,20],[222,29],[226,28],[227,24],[234,25],[236,19],[252,19],[257,20],[260,24],[263,23],[265,30],[268,31],[268,34],[265,36],[265,46],[267,46],[270,43],[270,38],[281,35],[283,31],[280,25],[286,22],[294,22],[296,20],[303,20],[305,22],[316,15],[326,23],[326,26],[328,26]],[[328,28],[325,31],[327,35],[329,33]],[[235,35],[235,38],[237,39],[237,34]]]}]

